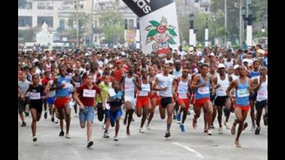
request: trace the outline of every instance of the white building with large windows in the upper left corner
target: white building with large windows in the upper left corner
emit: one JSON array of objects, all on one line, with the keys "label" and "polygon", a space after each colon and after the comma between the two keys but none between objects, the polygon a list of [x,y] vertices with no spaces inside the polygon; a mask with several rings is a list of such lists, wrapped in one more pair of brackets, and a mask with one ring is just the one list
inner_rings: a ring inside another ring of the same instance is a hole
[{"label": "white building with large windows in the upper left corner", "polygon": [[18,0],[18,29],[38,28],[46,22],[49,30],[56,31],[59,7],[60,1]]}]

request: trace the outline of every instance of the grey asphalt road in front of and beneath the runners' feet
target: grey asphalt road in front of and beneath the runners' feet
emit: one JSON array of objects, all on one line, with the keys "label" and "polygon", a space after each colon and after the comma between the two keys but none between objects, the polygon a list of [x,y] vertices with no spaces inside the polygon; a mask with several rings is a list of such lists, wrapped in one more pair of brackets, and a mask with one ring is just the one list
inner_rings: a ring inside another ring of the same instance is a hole
[{"label": "grey asphalt road in front of and beneath the runners' feet", "polygon": [[[73,111],[72,111],[73,113]],[[176,121],[172,122],[171,137],[163,136],[166,129],[166,120],[161,120],[158,109],[151,123],[151,129],[139,133],[140,118],[134,116],[135,122],[131,123],[131,136],[127,136],[126,127],[120,123],[119,141],[113,141],[114,128],[109,129],[110,138],[102,138],[101,122],[95,116],[93,124],[94,145],[86,147],[86,129],[79,127],[79,118],[72,114],[71,139],[59,137],[60,127],[51,123],[50,117],[44,120],[43,116],[38,122],[38,141],[32,141],[31,115],[26,118],[27,127],[18,118],[18,159],[20,160],[88,160],[88,159],[138,159],[138,160],[174,160],[174,159],[268,159],[268,128],[261,122],[260,135],[250,131],[250,115],[247,115],[249,127],[241,134],[242,148],[234,145],[235,136],[224,127],[224,133],[218,134],[218,121],[215,120],[216,129],[212,129],[213,136],[203,133],[203,116],[198,119],[198,128],[192,127],[193,111],[188,115],[185,126],[186,131],[180,132]],[[225,120],[225,117],[222,117]],[[234,121],[234,114],[229,119]],[[236,127],[237,129],[237,127]]]}]

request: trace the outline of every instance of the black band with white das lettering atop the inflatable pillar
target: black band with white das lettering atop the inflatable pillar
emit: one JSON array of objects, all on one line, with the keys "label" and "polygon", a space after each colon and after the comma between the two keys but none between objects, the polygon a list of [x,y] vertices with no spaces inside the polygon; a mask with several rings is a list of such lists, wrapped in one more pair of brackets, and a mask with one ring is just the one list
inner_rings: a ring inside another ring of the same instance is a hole
[{"label": "black band with white das lettering atop the inflatable pillar", "polygon": [[142,17],[172,3],[172,0],[122,0],[133,10],[133,13]]}]

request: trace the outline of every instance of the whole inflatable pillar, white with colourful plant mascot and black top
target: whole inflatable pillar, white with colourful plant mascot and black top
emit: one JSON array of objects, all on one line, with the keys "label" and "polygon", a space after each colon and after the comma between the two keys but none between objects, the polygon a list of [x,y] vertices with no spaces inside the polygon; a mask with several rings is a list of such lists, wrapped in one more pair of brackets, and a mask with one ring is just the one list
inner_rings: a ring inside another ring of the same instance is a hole
[{"label": "whole inflatable pillar, white with colourful plant mascot and black top", "polygon": [[142,52],[159,56],[179,47],[176,5],[172,0],[123,0],[140,17]]}]

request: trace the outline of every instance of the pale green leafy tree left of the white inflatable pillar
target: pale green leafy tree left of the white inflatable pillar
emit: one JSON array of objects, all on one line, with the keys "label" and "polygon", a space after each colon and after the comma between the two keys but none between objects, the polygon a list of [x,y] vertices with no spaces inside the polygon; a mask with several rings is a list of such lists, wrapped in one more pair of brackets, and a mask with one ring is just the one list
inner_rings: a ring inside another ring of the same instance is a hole
[{"label": "pale green leafy tree left of the white inflatable pillar", "polygon": [[99,31],[104,33],[105,42],[115,44],[124,40],[124,19],[121,13],[106,10],[99,13]]}]

